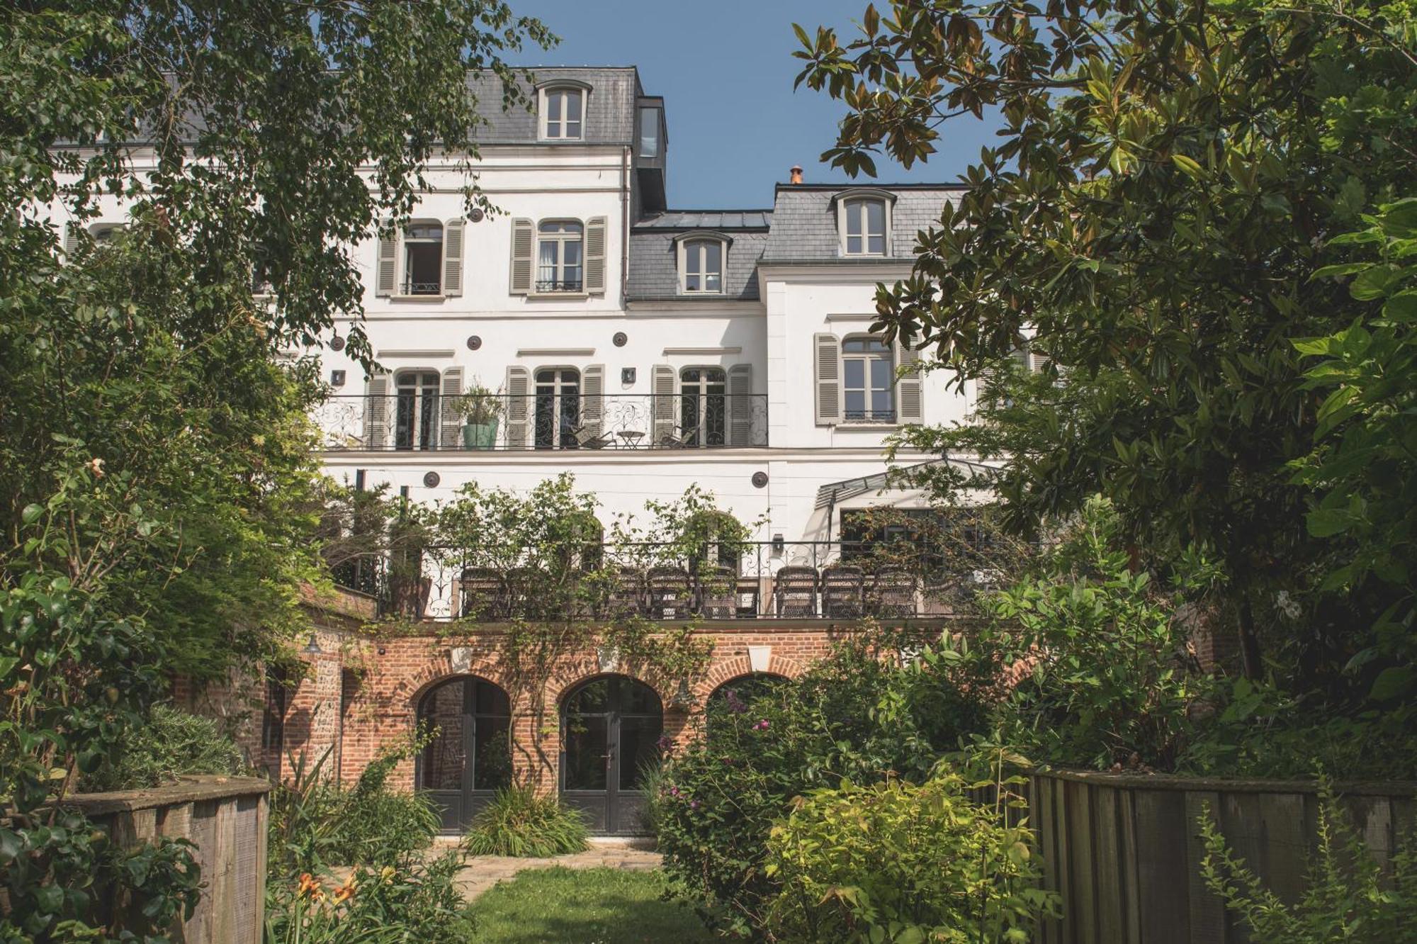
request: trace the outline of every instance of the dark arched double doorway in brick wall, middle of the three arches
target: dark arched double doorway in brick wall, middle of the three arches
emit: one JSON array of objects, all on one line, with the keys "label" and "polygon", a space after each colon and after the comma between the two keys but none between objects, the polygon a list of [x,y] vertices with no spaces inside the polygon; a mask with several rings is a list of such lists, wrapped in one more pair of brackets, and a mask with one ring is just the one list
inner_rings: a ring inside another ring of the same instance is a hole
[{"label": "dark arched double doorway in brick wall, middle of the three arches", "polygon": [[561,799],[591,831],[643,832],[645,768],[659,760],[665,707],[655,690],[623,675],[577,686],[561,709]]}]

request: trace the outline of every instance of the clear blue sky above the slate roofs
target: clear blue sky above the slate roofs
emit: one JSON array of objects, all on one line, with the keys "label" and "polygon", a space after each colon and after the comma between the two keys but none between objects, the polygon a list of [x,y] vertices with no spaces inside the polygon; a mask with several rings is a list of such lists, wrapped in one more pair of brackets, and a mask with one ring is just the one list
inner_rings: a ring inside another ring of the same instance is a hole
[{"label": "clear blue sky above the slate roofs", "polygon": [[[540,17],[561,45],[527,50],[523,65],[638,65],[648,95],[669,118],[669,206],[686,210],[769,207],[772,186],[802,164],[809,183],[847,177],[818,162],[845,108],[792,79],[792,23],[815,34],[854,35],[867,0],[512,0]],[[995,126],[952,119],[924,166],[877,160],[886,183],[954,183],[990,143]]]}]

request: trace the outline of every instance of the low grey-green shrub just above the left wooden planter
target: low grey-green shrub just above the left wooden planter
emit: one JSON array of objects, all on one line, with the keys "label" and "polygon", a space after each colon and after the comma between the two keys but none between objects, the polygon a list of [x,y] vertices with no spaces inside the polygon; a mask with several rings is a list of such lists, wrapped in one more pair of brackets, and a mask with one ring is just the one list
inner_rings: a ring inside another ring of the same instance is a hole
[{"label": "low grey-green shrub just above the left wooden planter", "polygon": [[125,731],[118,760],[84,777],[85,792],[143,790],[181,774],[239,774],[241,748],[221,723],[154,704],[145,724]]}]

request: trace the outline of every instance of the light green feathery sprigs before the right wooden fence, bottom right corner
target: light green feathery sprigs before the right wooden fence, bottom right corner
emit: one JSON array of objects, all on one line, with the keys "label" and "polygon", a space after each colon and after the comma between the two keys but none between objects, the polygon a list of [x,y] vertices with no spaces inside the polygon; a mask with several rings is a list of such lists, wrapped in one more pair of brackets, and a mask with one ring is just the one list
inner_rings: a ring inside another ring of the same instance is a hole
[{"label": "light green feathery sprigs before the right wooden fence, bottom right corner", "polygon": [[1207,809],[1199,819],[1206,843],[1200,863],[1206,887],[1246,926],[1251,940],[1287,944],[1386,944],[1417,927],[1417,845],[1379,863],[1343,814],[1332,784],[1321,778],[1318,849],[1309,859],[1304,894],[1285,903],[1226,845]]}]

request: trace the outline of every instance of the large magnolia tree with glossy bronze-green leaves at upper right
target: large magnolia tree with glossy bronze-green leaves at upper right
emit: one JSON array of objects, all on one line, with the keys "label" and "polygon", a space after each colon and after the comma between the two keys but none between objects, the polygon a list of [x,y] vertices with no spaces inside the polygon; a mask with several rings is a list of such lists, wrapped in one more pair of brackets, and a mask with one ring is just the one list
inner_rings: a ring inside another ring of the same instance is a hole
[{"label": "large magnolia tree with glossy bronze-green leaves at upper right", "polygon": [[799,28],[798,81],[850,109],[823,154],[847,172],[874,173],[881,150],[928,159],[951,120],[1003,119],[877,306],[956,386],[1024,343],[1044,377],[1022,411],[995,397],[975,431],[917,442],[996,455],[1016,529],[1102,493],[1139,561],[1217,558],[1251,676],[1278,591],[1311,601],[1312,629],[1275,639],[1336,686],[1350,628],[1390,602],[1304,597],[1342,551],[1305,530],[1312,492],[1288,468],[1318,407],[1288,339],[1353,319],[1346,289],[1311,275],[1369,203],[1417,183],[1413,11],[907,1],[869,7],[845,45]]}]

